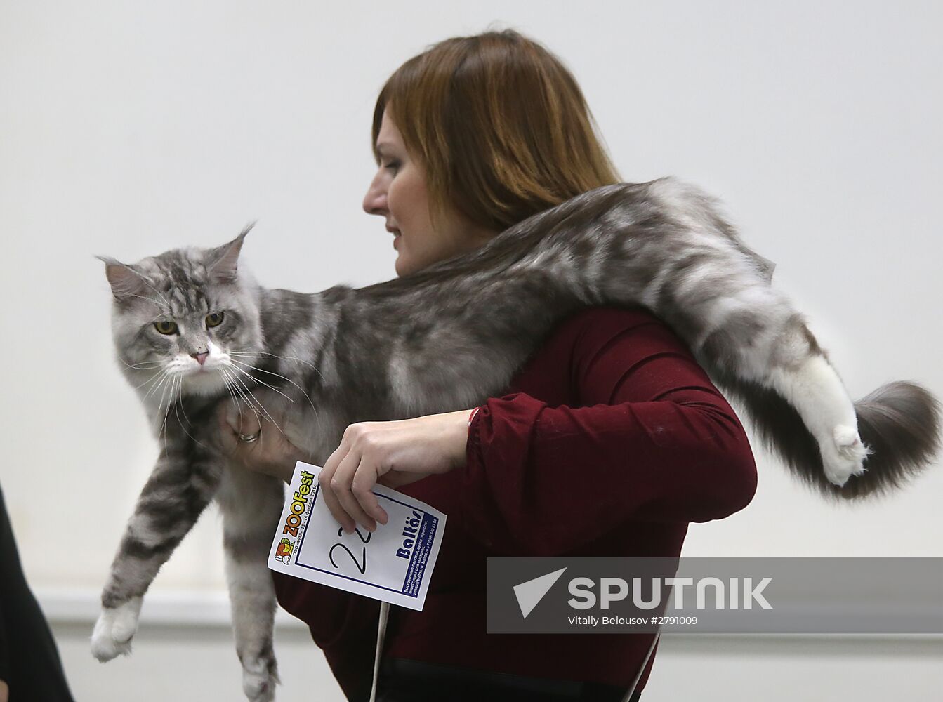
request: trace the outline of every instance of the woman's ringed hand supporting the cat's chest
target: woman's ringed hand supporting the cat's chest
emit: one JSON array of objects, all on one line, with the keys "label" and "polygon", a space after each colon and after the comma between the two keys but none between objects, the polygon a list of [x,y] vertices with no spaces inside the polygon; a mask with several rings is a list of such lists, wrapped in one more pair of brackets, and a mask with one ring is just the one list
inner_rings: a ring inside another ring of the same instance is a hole
[{"label": "woman's ringed hand supporting the cat's chest", "polygon": [[[277,402],[265,402],[266,391],[254,393],[263,407],[274,408]],[[270,409],[274,412],[273,409]],[[302,450],[292,444],[280,427],[285,426],[285,417],[259,415],[244,403],[237,405],[232,400],[222,402],[217,418],[220,425],[220,448],[238,465],[256,473],[265,473],[285,482],[291,482],[296,461],[310,461]]]}]

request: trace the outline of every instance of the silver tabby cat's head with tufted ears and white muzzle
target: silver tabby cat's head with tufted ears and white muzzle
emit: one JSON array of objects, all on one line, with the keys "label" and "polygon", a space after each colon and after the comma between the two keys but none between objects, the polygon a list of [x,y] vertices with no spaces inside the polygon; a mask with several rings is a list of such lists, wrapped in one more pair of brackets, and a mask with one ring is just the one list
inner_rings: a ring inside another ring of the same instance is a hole
[{"label": "silver tabby cat's head with tufted ears and white muzzle", "polygon": [[227,375],[238,379],[240,361],[259,353],[258,286],[238,265],[250,228],[215,249],[174,249],[135,264],[100,257],[115,350],[141,397],[221,394]]}]

